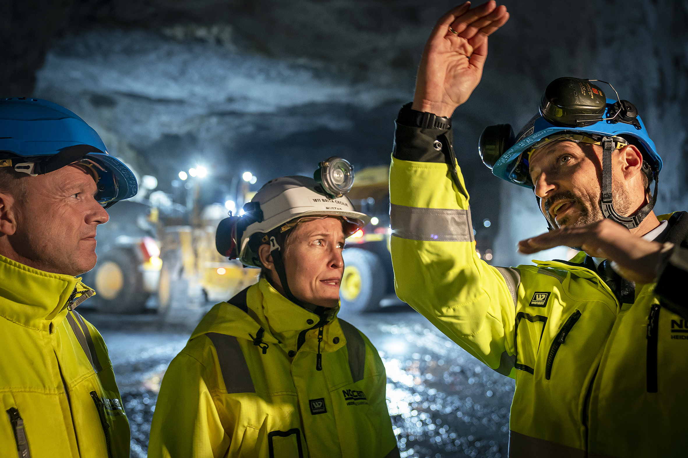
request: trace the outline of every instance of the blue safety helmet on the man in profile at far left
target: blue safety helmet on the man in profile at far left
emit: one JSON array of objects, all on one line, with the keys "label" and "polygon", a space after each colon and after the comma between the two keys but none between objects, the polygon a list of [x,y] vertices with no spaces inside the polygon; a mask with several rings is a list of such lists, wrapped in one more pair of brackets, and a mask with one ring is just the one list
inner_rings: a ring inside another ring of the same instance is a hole
[{"label": "blue safety helmet on the man in profile at far left", "polygon": [[98,174],[96,200],[105,208],[138,192],[133,172],[72,111],[41,99],[0,100],[0,167],[36,176],[74,163]]}]

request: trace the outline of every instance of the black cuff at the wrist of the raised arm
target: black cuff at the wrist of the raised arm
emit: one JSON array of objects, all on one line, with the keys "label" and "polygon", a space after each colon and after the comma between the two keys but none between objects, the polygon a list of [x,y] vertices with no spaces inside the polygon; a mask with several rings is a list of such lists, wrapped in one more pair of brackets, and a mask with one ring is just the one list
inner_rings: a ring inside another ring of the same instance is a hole
[{"label": "black cuff at the wrist of the raised arm", "polygon": [[392,154],[402,161],[445,162],[442,152],[442,135],[453,143],[451,128],[430,129],[404,126],[396,122],[394,130],[394,149]]}]

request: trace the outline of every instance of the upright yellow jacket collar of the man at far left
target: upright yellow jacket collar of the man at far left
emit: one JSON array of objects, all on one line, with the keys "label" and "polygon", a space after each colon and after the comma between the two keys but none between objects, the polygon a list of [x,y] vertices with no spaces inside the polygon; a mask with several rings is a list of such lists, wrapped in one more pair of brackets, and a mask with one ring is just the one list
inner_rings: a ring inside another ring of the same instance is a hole
[{"label": "upright yellow jacket collar of the man at far left", "polygon": [[80,277],[39,271],[0,255],[0,315],[28,328],[48,330],[95,291]]}]

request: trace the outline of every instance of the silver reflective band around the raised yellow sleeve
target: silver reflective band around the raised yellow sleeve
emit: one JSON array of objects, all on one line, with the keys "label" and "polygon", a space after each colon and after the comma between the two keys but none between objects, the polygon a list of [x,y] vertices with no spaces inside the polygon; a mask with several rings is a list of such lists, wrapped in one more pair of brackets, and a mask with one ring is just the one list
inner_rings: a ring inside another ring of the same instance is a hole
[{"label": "silver reflective band around the raised yellow sleeve", "polygon": [[471,210],[391,204],[393,236],[423,242],[473,242]]}]

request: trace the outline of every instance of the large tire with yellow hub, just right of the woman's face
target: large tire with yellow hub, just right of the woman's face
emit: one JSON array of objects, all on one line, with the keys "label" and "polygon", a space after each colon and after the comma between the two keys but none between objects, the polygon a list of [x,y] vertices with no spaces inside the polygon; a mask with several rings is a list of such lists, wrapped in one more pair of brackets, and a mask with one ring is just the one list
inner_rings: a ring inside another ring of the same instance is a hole
[{"label": "large tire with yellow hub, just right of the woman's face", "polygon": [[387,290],[380,257],[360,248],[347,248],[342,255],[344,274],[339,288],[342,308],[356,312],[379,310],[380,300]]}]

